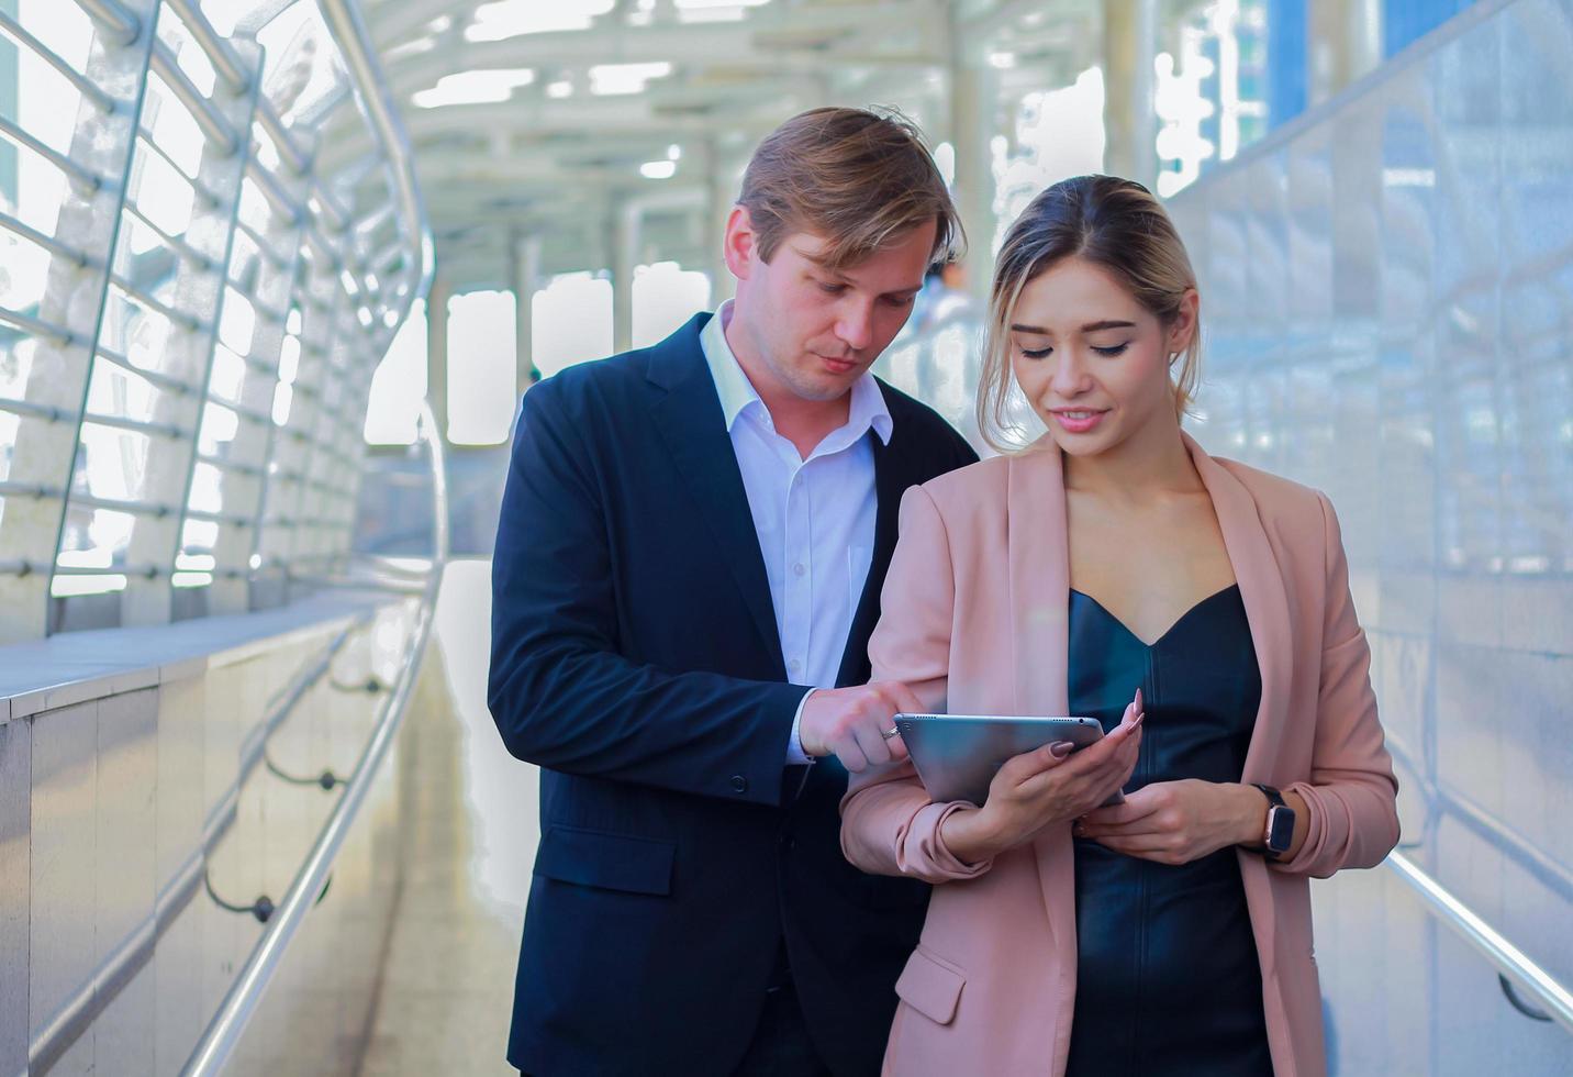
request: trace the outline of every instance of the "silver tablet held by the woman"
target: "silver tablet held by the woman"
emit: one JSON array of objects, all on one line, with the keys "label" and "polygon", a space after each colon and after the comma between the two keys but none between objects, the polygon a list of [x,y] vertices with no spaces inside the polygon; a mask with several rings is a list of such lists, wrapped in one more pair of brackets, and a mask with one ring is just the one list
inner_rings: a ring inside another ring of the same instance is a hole
[{"label": "silver tablet held by the woman", "polygon": [[[967,800],[982,805],[994,772],[1007,759],[1055,740],[1068,740],[1081,749],[1103,737],[1096,718],[900,713],[895,727],[934,803]],[[1122,800],[1115,792],[1109,803]]]}]

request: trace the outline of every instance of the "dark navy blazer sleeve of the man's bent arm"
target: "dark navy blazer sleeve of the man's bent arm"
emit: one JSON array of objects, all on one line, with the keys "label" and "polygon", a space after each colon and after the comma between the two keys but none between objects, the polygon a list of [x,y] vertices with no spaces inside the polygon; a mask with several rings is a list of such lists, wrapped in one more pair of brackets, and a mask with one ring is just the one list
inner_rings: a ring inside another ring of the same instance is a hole
[{"label": "dark navy blazer sleeve of the man's bent arm", "polygon": [[[780,803],[807,688],[618,653],[602,483],[571,390],[524,395],[492,559],[486,702],[508,751],[571,775]],[[741,781],[739,781],[741,779]]]}]

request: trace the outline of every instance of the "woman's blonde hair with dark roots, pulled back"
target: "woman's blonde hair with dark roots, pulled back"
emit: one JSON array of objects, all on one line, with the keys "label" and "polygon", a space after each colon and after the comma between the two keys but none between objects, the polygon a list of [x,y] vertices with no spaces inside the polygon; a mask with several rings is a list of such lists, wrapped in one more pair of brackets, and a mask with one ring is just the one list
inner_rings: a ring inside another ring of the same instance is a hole
[{"label": "woman's blonde hair with dark roots, pulled back", "polygon": [[[1062,180],[1037,198],[1005,235],[989,290],[988,342],[978,379],[978,430],[999,452],[1021,447],[1010,417],[1010,323],[1021,290],[1065,258],[1106,269],[1159,321],[1169,324],[1195,272],[1180,233],[1147,187],[1118,176]],[[1184,414],[1200,376],[1202,326],[1173,372],[1175,411]]]}]

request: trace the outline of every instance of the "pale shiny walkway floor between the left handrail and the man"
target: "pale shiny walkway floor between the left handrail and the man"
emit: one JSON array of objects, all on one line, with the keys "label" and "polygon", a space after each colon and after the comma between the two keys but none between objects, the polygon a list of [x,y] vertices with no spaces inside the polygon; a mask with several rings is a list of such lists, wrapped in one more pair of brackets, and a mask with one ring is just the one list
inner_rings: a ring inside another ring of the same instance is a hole
[{"label": "pale shiny walkway floor between the left handrail and the man", "polygon": [[401,745],[415,827],[365,1077],[511,1074],[503,1060],[538,825],[536,772],[486,712],[491,564],[459,561],[437,603]]}]

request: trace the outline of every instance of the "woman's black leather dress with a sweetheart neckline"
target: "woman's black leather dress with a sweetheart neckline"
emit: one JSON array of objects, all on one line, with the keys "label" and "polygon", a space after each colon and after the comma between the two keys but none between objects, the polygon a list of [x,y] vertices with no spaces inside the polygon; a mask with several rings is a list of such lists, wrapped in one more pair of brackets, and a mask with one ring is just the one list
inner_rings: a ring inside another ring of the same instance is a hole
[{"label": "woman's black leather dress with a sweetheart neckline", "polygon": [[[1126,792],[1178,778],[1240,781],[1262,674],[1238,586],[1192,606],[1151,647],[1073,590],[1068,672],[1071,713],[1106,731],[1142,690],[1142,749]],[[1076,839],[1076,942],[1073,1077],[1271,1077],[1233,849],[1169,866]]]}]

